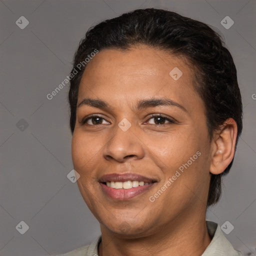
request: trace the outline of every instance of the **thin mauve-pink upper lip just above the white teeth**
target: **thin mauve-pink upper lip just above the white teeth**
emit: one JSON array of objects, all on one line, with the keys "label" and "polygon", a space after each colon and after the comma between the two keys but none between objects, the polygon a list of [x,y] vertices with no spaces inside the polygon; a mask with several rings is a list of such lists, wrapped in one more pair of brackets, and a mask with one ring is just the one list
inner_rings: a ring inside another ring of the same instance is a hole
[{"label": "thin mauve-pink upper lip just above the white teeth", "polygon": [[131,173],[131,172],[126,172],[126,173],[110,173],[110,174],[105,174],[99,178],[99,182],[107,182],[107,181],[128,181],[128,180],[138,180],[138,181],[144,181],[144,182],[154,182],[156,181],[153,178],[149,178],[146,176],[142,176],[136,173]]}]

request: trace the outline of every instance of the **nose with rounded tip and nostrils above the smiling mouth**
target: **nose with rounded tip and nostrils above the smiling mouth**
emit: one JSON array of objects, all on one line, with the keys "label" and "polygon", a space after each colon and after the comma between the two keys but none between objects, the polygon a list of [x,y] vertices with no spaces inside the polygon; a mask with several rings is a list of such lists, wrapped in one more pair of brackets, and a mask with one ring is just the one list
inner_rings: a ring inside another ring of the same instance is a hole
[{"label": "nose with rounded tip and nostrils above the smiling mouth", "polygon": [[141,159],[144,156],[144,143],[139,138],[138,130],[131,125],[127,130],[116,124],[110,139],[103,147],[103,156],[107,160],[124,162],[130,158]]}]

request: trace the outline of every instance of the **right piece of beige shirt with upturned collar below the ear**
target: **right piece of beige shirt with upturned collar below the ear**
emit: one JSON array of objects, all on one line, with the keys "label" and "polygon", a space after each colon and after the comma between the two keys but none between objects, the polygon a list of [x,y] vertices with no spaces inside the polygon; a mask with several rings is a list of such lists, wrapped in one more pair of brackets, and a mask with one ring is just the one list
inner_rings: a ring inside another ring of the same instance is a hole
[{"label": "right piece of beige shirt with upturned collar below the ear", "polygon": [[219,224],[206,220],[211,242],[201,256],[243,256],[239,250],[235,250],[232,244],[222,233]]}]

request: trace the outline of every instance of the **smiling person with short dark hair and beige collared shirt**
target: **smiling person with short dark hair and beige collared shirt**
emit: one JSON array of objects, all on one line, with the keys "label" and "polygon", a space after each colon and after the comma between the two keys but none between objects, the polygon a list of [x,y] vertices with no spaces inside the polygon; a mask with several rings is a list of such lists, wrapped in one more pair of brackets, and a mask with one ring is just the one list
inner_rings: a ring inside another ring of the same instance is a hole
[{"label": "smiling person with short dark hair and beige collared shirt", "polygon": [[87,31],[70,78],[72,160],[101,235],[64,255],[242,255],[205,221],[242,129],[219,35],[134,10]]}]

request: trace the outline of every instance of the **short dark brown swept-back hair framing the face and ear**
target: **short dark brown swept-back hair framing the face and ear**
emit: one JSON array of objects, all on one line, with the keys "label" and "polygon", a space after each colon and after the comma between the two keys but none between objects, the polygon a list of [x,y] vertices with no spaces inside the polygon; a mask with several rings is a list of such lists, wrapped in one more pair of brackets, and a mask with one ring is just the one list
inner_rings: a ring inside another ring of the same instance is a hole
[{"label": "short dark brown swept-back hair framing the face and ear", "polygon": [[[236,68],[218,33],[200,21],[155,8],[136,9],[102,21],[90,27],[80,40],[71,73],[77,71],[77,64],[95,49],[124,50],[136,44],[145,44],[186,57],[194,70],[197,70],[194,72],[195,88],[205,104],[209,137],[231,117],[237,124],[238,139],[242,130],[242,103]],[[85,66],[70,79],[68,98],[72,133],[76,120],[78,87]],[[232,162],[233,159],[222,173],[211,174],[207,207],[219,200],[221,176],[229,172]]]}]

